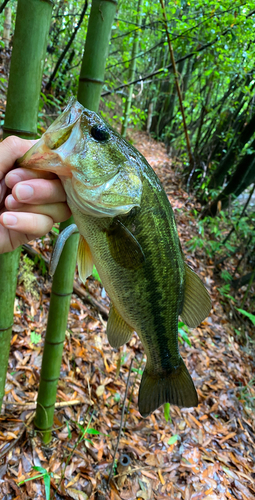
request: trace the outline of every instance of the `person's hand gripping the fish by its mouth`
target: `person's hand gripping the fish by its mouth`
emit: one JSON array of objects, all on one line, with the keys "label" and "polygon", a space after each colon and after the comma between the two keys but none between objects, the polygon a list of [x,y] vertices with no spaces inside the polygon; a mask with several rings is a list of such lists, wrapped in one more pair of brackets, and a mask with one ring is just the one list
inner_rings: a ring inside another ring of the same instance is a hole
[{"label": "person's hand gripping the fish by its mouth", "polygon": [[[34,143],[16,136],[0,143],[0,254],[45,235],[54,222],[71,216],[57,176],[50,172],[13,169],[15,161]],[[9,195],[7,188],[12,190]]]}]

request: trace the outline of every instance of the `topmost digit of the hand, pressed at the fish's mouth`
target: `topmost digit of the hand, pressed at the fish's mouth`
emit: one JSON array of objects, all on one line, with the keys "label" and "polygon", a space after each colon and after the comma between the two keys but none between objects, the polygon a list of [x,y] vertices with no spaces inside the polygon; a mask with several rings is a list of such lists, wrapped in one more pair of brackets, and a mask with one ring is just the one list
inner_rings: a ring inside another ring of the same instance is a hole
[{"label": "topmost digit of the hand, pressed at the fish's mouth", "polygon": [[23,156],[35,142],[10,135],[0,143],[0,180],[13,168],[15,161]]}]

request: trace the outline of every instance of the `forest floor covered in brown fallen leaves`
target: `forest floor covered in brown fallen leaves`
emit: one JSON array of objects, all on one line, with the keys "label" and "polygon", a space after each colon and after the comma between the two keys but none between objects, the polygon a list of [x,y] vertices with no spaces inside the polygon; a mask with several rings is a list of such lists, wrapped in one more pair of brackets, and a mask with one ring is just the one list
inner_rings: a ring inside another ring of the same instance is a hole
[{"label": "forest floor covered in brown fallen leaves", "polygon": [[[137,398],[144,354],[138,337],[121,352],[112,349],[105,334],[103,309],[100,312],[73,294],[53,440],[50,446],[43,446],[32,419],[51,281],[35,266],[35,280],[30,279],[27,289],[21,277],[15,302],[6,398],[0,417],[1,499],[44,499],[47,481],[52,499],[255,498],[254,358],[247,344],[241,347],[236,342],[233,324],[220,303],[213,263],[201,249],[187,254],[187,242],[197,234],[193,210],[199,207],[182,189],[164,145],[142,132],[132,132],[132,139],[160,177],[175,212],[187,262],[212,297],[210,316],[189,332],[191,346],[186,342],[180,346],[199,405],[183,410],[171,407],[168,421],[163,407],[141,418]],[[32,247],[49,258],[52,235]],[[109,300],[98,281],[89,278],[86,289],[81,285],[80,289],[109,310]],[[108,485],[131,359],[117,465]],[[33,479],[40,475],[34,466],[42,468],[43,477]],[[26,479],[30,480],[20,484]]]}]

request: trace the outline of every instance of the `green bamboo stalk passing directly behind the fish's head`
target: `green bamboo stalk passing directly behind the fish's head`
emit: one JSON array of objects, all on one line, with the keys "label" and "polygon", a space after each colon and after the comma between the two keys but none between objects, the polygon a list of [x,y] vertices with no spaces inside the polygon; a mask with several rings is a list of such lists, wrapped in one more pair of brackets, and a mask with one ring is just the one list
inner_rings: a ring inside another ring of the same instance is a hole
[{"label": "green bamboo stalk passing directly behind the fish's head", "polygon": [[[81,68],[78,100],[88,109],[97,111],[104,79],[105,62],[111,27],[117,3],[93,0]],[[100,55],[100,56],[99,56]],[[71,217],[61,230],[73,223]],[[37,399],[35,426],[44,443],[51,440],[57,384],[65,339],[73,275],[76,264],[78,236],[72,235],[63,250],[53,278],[50,311],[42,360],[41,380]]]}]

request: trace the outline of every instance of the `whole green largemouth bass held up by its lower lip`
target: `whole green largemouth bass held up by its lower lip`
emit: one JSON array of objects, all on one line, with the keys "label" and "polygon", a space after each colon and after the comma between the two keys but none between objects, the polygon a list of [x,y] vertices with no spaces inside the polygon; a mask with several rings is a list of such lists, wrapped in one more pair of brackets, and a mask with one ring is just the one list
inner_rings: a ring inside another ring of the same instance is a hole
[{"label": "whole green largemouth bass held up by its lower lip", "polygon": [[111,346],[127,343],[134,331],[141,340],[147,361],[140,414],[167,402],[197,406],[178,348],[178,317],[198,326],[211,299],[185,262],[173,209],[146,159],[73,98],[19,165],[60,178],[80,233],[80,278],[84,282],[95,264],[111,300]]}]

